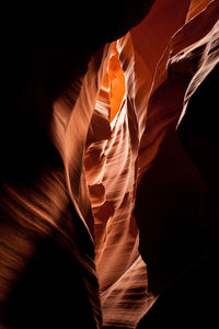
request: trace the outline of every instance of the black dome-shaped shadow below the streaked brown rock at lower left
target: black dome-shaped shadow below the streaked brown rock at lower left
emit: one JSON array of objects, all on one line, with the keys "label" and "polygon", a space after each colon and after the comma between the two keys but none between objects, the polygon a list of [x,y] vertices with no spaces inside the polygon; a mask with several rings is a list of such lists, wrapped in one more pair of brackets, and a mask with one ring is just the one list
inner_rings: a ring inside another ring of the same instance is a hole
[{"label": "black dome-shaped shadow below the streaked brown rock at lower left", "polygon": [[9,328],[96,328],[81,266],[54,239],[38,247],[2,313]]}]

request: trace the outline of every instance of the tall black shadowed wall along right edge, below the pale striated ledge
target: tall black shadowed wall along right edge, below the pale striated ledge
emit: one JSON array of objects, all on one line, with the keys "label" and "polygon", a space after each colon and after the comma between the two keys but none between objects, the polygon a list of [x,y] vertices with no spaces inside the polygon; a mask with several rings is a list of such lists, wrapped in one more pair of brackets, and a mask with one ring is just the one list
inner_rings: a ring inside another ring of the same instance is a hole
[{"label": "tall black shadowed wall along right edge, below the pale striated ledge", "polygon": [[138,329],[218,327],[218,86],[219,65],[192,97],[178,127],[182,146],[198,168],[205,184],[203,217],[210,241],[208,254],[161,294]]}]

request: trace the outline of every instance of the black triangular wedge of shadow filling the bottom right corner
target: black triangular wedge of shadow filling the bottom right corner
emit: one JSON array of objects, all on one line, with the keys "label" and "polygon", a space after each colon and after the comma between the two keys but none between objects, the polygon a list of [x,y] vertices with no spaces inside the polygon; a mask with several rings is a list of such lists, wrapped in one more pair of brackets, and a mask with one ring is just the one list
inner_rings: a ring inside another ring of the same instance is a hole
[{"label": "black triangular wedge of shadow filling the bottom right corner", "polygon": [[218,253],[188,271],[165,291],[138,329],[217,328]]}]

